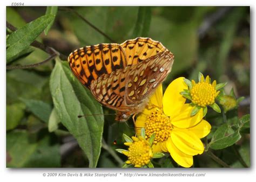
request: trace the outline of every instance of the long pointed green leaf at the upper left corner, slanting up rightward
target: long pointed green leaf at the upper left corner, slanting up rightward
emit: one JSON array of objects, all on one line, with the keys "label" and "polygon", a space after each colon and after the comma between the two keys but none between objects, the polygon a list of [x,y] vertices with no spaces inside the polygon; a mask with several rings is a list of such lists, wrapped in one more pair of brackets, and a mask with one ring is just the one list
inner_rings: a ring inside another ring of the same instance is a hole
[{"label": "long pointed green leaf at the upper left corner, slanting up rightward", "polygon": [[43,32],[46,26],[54,19],[53,15],[39,17],[32,22],[11,33],[6,40],[9,47],[6,50],[6,61],[10,62],[12,57],[22,52]]}]

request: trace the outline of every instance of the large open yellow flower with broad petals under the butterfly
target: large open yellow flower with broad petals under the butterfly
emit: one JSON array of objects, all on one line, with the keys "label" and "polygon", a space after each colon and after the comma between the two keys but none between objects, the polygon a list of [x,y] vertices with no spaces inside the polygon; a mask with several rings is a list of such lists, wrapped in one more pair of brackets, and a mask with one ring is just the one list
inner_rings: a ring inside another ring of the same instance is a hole
[{"label": "large open yellow flower with broad petals under the butterfly", "polygon": [[200,138],[209,134],[211,125],[203,120],[203,109],[190,115],[193,107],[180,94],[184,89],[187,89],[184,78],[172,81],[164,96],[160,85],[135,124],[138,136],[142,128],[146,138],[155,135],[153,152],[169,152],[179,165],[191,167],[193,156],[204,151]]}]

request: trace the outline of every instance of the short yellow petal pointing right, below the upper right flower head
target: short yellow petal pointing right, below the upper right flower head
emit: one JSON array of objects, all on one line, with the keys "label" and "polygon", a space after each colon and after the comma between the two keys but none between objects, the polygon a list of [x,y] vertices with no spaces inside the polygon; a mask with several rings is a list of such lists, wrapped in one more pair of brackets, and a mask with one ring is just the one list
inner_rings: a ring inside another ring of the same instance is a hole
[{"label": "short yellow petal pointing right, below the upper right flower head", "polygon": [[193,132],[197,135],[198,138],[204,138],[211,131],[211,124],[205,120],[202,120],[200,123],[195,125],[194,127],[188,128],[188,131]]}]

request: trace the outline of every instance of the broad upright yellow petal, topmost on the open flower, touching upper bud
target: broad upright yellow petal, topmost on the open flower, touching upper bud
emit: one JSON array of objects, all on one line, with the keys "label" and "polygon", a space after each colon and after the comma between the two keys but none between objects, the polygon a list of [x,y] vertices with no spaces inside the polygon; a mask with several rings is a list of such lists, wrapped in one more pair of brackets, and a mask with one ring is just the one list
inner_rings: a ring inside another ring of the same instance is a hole
[{"label": "broad upright yellow petal, topmost on the open flower, touching upper bud", "polygon": [[167,116],[174,115],[185,103],[185,97],[180,95],[180,92],[183,92],[184,89],[187,89],[184,77],[173,80],[166,88],[163,97],[163,109]]}]

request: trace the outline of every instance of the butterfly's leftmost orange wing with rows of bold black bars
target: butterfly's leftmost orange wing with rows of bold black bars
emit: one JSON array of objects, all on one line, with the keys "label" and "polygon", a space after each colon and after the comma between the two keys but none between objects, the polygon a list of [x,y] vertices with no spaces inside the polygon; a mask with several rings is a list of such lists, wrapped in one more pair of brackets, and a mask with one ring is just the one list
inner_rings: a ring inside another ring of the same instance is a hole
[{"label": "butterfly's leftmost orange wing with rows of bold black bars", "polygon": [[123,48],[119,44],[98,44],[73,51],[68,58],[75,76],[87,88],[103,74],[110,74],[126,66]]}]

